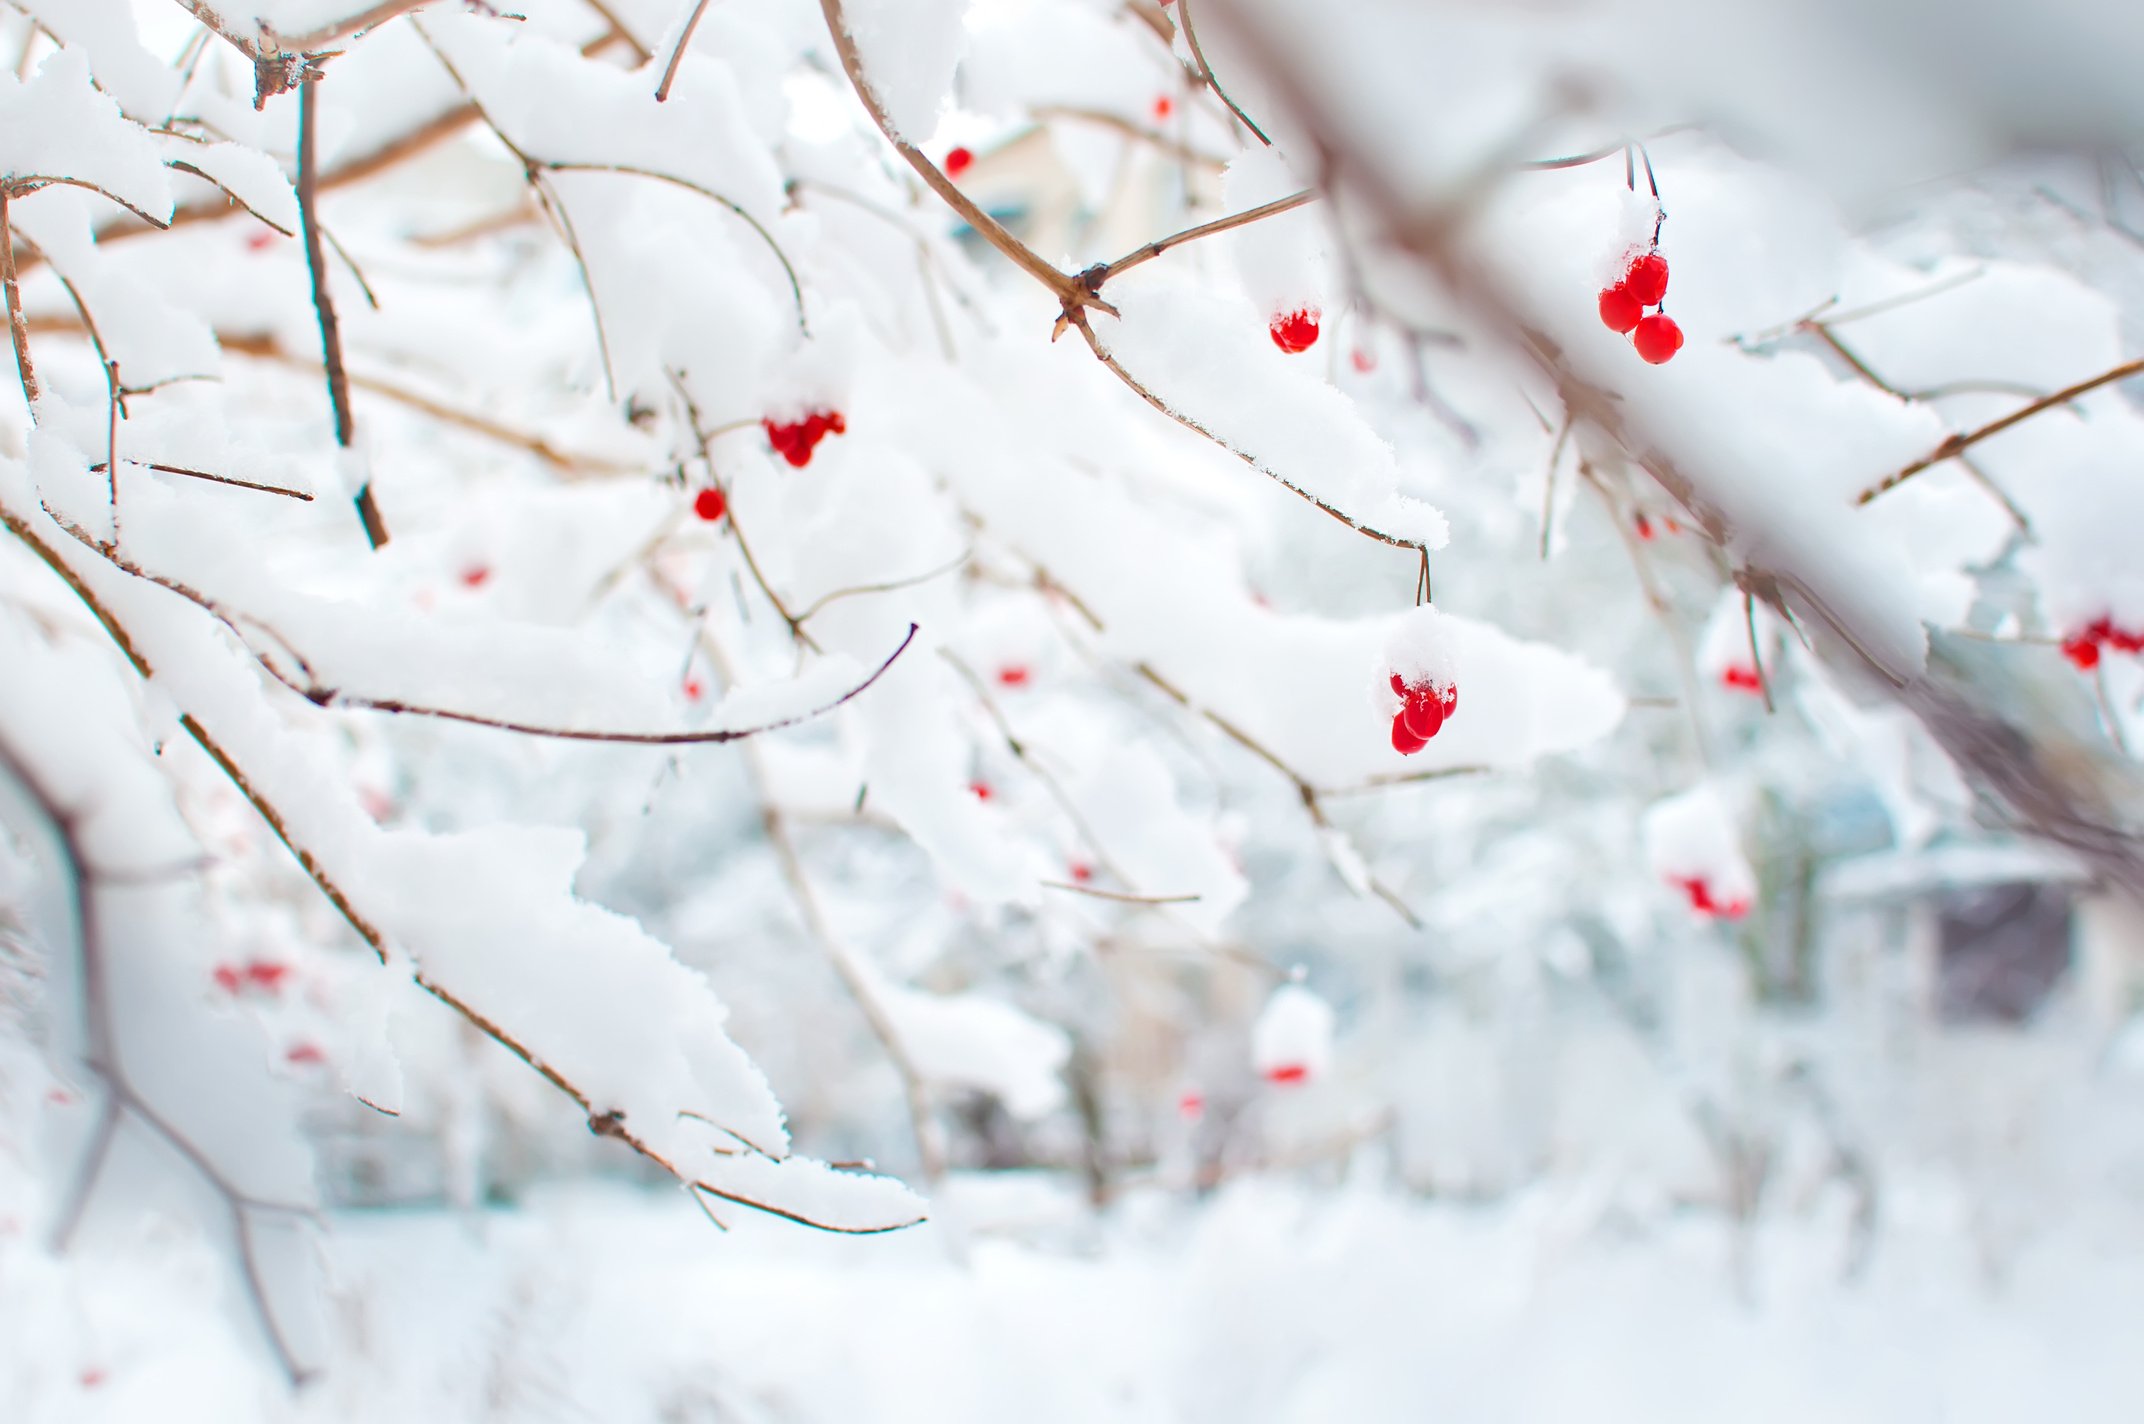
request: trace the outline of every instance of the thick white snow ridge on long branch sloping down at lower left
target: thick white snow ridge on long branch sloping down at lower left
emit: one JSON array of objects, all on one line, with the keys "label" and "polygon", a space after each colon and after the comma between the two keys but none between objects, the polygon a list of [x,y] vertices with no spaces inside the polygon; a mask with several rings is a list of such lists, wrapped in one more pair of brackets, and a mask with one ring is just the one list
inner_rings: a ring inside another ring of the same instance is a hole
[{"label": "thick white snow ridge on long branch sloping down at lower left", "polygon": [[[90,607],[180,710],[180,727],[262,813],[277,839],[382,963],[416,982],[686,1184],[832,1231],[922,1220],[898,1182],[823,1186],[789,1167],[783,1113],[725,1032],[727,1008],[635,920],[579,901],[577,832],[487,828],[440,836],[382,830],[337,768],[259,697],[259,682],[199,609],[77,547],[36,504],[26,470],[0,465],[0,523]],[[768,1167],[742,1169],[738,1152]],[[787,1169],[787,1171],[785,1171]],[[808,1182],[787,1203],[780,1186]],[[768,1190],[774,1188],[774,1190]],[[834,1220],[813,1207],[832,1203]]]}]

